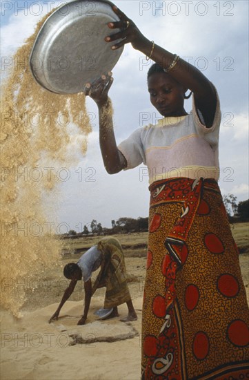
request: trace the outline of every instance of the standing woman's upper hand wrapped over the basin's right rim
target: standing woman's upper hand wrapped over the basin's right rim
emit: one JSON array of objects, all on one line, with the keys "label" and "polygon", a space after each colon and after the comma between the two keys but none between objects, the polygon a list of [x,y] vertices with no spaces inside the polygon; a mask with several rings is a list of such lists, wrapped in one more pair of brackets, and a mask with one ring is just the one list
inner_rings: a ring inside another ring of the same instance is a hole
[{"label": "standing woman's upper hand wrapped over the basin's right rim", "polygon": [[144,41],[147,41],[146,37],[142,35],[135,23],[129,19],[119,8],[114,6],[112,9],[119,16],[120,21],[110,22],[108,23],[108,27],[110,29],[120,28],[122,30],[115,33],[114,35],[107,36],[105,38],[105,41],[112,42],[116,41],[117,39],[121,39],[121,41],[112,46],[112,49],[114,50],[121,48],[121,46],[128,44],[129,42],[132,44],[133,48],[140,50],[141,46],[144,44]]}]

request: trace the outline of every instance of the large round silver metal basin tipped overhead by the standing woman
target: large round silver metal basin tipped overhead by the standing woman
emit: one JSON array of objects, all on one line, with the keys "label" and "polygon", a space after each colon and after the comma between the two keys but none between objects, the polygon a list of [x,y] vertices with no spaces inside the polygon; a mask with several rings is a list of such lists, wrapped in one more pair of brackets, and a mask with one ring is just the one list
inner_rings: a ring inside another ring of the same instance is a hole
[{"label": "large round silver metal basin tipped overhead by the standing woman", "polygon": [[119,31],[107,23],[119,21],[110,1],[74,0],[46,19],[30,55],[34,79],[53,93],[83,91],[117,64],[123,48],[112,50],[104,38]]}]

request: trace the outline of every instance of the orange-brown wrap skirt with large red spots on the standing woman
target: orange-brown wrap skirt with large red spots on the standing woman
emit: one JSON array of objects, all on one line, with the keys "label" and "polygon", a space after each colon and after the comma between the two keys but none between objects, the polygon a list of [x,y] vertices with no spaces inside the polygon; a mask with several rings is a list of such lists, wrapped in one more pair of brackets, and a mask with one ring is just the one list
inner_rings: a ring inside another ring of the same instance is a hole
[{"label": "orange-brown wrap skirt with large red spots on the standing woman", "polygon": [[249,379],[249,311],[215,180],[150,185],[142,379]]}]

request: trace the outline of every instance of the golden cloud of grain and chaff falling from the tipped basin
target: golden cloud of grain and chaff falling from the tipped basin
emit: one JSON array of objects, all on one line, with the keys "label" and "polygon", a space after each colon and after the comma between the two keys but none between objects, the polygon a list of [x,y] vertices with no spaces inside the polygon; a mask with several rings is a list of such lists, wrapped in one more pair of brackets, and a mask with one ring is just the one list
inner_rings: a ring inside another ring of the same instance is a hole
[{"label": "golden cloud of grain and chaff falling from the tipped basin", "polygon": [[[17,50],[14,62],[28,61],[47,17]],[[45,267],[59,265],[57,168],[75,163],[72,151],[86,153],[91,126],[83,93],[50,93],[25,64],[14,64],[1,94],[1,304],[19,316],[34,278],[39,281]],[[51,192],[54,218],[47,220],[43,201]]]}]

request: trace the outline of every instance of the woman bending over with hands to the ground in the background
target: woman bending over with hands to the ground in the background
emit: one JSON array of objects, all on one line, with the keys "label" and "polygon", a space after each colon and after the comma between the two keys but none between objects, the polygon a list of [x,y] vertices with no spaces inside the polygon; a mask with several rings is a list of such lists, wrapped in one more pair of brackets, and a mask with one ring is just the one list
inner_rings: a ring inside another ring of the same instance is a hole
[{"label": "woman bending over with hands to the ground in the background", "polygon": [[[92,284],[92,272],[97,269],[100,269],[99,274]],[[79,258],[77,263],[68,263],[63,269],[63,274],[71,281],[49,323],[54,319],[58,320],[61,307],[68,300],[74,291],[77,281],[81,280],[81,278],[85,289],[85,305],[83,316],[78,321],[78,325],[85,325],[91,298],[100,287],[106,287],[103,307],[111,312],[111,314],[108,314],[108,318],[119,316],[117,307],[122,303],[126,303],[128,315],[120,321],[129,322],[137,320],[137,314],[133,307],[127,284],[123,249],[116,238],[101,238],[97,245],[92,246]]]}]

